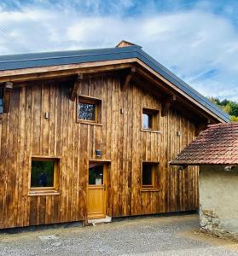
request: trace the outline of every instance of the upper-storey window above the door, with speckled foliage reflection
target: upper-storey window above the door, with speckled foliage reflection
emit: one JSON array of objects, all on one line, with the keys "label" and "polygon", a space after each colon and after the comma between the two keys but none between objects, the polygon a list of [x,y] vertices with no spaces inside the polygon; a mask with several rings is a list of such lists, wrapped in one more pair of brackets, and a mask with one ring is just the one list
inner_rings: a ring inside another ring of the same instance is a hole
[{"label": "upper-storey window above the door, with speckled foliage reflection", "polygon": [[101,100],[88,96],[78,97],[78,120],[98,123],[101,121]]}]

